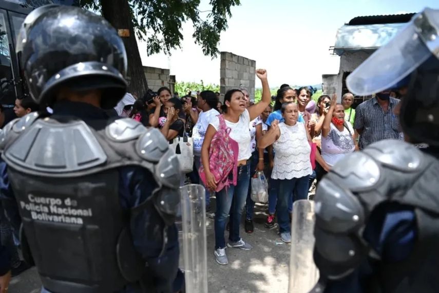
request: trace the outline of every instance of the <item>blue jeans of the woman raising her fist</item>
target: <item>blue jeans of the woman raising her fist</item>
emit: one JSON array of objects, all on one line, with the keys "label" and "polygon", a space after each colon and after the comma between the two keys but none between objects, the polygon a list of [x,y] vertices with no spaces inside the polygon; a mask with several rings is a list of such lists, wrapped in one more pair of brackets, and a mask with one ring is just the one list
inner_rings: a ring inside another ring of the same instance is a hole
[{"label": "blue jeans of the woman raising her fist", "polygon": [[238,167],[236,186],[231,185],[216,193],[217,210],[215,213],[215,249],[225,247],[224,230],[227,216],[230,213],[230,229],[228,239],[236,242],[239,237],[239,223],[241,222],[250,182],[250,161],[245,166]]}]

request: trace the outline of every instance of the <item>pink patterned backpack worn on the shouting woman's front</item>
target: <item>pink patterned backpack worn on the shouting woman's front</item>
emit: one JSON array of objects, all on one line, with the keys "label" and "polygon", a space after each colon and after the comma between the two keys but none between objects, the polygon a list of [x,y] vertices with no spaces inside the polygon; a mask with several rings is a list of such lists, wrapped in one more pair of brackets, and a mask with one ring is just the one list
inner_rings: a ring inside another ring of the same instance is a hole
[{"label": "pink patterned backpack worn on the shouting woman's front", "polygon": [[[209,169],[215,177],[217,184],[216,192],[221,191],[230,184],[236,185],[238,177],[238,142],[230,138],[230,127],[225,124],[222,115],[217,116],[219,119],[219,129],[212,138],[211,148],[209,149]],[[229,174],[233,173],[233,179],[229,179]],[[203,166],[198,170],[200,178],[206,185],[206,175]]]}]

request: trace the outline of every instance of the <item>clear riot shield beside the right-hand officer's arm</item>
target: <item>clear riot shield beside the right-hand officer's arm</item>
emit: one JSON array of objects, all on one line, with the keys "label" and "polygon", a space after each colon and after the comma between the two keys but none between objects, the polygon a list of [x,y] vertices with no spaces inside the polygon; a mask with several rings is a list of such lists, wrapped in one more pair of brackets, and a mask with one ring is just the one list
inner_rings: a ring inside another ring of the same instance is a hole
[{"label": "clear riot shield beside the right-hand officer's arm", "polygon": [[314,264],[314,202],[301,199],[293,204],[289,293],[311,291],[319,278]]}]

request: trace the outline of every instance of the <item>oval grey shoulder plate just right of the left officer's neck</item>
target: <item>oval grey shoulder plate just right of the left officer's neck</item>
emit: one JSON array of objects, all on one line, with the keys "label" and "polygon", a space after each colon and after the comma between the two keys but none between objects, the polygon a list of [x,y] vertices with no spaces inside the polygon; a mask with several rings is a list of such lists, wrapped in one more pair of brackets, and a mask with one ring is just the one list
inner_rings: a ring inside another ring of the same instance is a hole
[{"label": "oval grey shoulder plate just right of the left officer's neck", "polygon": [[109,124],[105,129],[105,134],[112,141],[125,142],[138,138],[145,130],[142,123],[131,118],[122,118]]}]

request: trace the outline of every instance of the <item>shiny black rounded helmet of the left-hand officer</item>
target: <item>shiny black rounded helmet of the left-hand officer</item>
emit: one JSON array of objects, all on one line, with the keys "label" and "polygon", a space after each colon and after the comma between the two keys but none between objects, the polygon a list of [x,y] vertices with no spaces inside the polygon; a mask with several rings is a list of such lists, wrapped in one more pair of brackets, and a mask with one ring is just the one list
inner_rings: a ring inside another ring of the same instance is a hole
[{"label": "shiny black rounded helmet of the left-hand officer", "polygon": [[101,107],[123,98],[127,57],[117,31],[101,16],[71,6],[43,6],[23,23],[16,45],[33,100],[52,105],[61,87],[102,89]]}]

